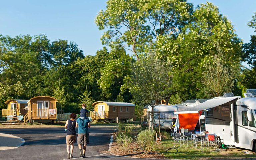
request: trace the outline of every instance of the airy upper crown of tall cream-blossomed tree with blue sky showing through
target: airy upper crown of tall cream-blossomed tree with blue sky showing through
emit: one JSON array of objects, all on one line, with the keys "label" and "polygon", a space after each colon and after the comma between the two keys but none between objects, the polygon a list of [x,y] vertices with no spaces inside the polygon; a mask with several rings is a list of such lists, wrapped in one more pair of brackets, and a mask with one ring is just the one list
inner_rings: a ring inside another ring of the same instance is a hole
[{"label": "airy upper crown of tall cream-blossomed tree with blue sky showing through", "polygon": [[179,32],[192,10],[193,5],[184,0],[109,0],[95,22],[106,30],[103,44],[119,44],[141,59],[160,35]]}]

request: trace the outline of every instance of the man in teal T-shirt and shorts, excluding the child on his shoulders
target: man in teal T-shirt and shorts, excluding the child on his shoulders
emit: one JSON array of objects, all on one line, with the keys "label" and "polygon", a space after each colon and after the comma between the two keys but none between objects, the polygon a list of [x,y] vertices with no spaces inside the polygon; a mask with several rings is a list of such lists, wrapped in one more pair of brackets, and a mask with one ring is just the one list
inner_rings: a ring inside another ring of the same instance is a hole
[{"label": "man in teal T-shirt and shorts, excluding the child on his shoulders", "polygon": [[77,144],[80,149],[80,157],[85,158],[86,145],[89,144],[90,120],[87,117],[85,119],[78,118],[76,124],[78,125]]}]

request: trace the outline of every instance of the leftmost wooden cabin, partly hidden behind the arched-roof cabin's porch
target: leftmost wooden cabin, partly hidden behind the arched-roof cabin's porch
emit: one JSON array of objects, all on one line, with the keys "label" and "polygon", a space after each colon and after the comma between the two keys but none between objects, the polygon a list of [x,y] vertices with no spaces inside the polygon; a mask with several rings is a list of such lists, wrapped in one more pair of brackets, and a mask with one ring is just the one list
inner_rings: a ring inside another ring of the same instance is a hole
[{"label": "leftmost wooden cabin, partly hidden behind the arched-roof cabin's porch", "polygon": [[6,117],[9,115],[21,116],[27,114],[27,110],[24,110],[28,105],[28,101],[26,99],[11,99],[7,100],[5,104],[7,104],[7,109],[2,109],[2,117]]}]

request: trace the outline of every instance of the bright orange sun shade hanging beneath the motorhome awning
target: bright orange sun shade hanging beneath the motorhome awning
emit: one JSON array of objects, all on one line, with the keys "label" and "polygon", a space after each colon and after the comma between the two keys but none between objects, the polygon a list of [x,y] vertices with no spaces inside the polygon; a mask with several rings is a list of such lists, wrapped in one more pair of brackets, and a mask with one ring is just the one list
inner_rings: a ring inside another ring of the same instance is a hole
[{"label": "bright orange sun shade hanging beneath the motorhome awning", "polygon": [[[203,111],[200,111],[201,116]],[[179,114],[180,128],[194,130],[199,120],[198,113]]]}]

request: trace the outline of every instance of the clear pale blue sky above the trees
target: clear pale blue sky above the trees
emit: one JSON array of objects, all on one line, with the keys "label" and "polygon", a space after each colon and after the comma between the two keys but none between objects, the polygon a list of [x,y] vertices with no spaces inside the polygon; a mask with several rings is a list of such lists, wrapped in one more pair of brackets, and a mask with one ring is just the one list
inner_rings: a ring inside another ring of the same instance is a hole
[{"label": "clear pale blue sky above the trees", "polygon": [[[194,7],[206,0],[188,0]],[[256,34],[247,26],[254,12],[256,0],[208,0],[219,7],[234,25],[244,43]],[[99,31],[94,23],[97,13],[106,8],[106,0],[2,0],[0,5],[0,34],[46,34],[50,41],[74,41],[85,55],[95,55],[102,49]]]}]

